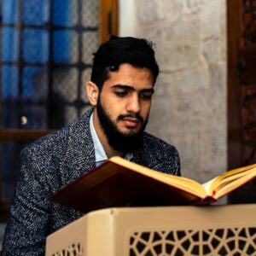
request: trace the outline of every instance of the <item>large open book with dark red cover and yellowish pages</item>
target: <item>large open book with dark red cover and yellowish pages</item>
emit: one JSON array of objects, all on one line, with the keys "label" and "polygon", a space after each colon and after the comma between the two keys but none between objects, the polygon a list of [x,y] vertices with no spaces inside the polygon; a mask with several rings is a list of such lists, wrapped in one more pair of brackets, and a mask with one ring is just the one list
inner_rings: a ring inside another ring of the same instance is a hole
[{"label": "large open book with dark red cover and yellowish pages", "polygon": [[50,195],[82,212],[105,207],[210,204],[256,177],[256,164],[200,184],[113,157]]}]

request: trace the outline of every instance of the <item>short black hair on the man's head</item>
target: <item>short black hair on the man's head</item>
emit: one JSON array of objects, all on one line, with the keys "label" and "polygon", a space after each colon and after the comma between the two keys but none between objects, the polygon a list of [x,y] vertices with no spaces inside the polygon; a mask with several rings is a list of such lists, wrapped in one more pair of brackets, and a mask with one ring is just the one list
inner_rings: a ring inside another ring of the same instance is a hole
[{"label": "short black hair on the man's head", "polygon": [[99,90],[102,90],[102,85],[108,79],[109,71],[118,71],[119,65],[123,63],[148,68],[154,77],[154,83],[159,74],[154,57],[154,43],[144,38],[111,36],[93,55],[90,80]]}]

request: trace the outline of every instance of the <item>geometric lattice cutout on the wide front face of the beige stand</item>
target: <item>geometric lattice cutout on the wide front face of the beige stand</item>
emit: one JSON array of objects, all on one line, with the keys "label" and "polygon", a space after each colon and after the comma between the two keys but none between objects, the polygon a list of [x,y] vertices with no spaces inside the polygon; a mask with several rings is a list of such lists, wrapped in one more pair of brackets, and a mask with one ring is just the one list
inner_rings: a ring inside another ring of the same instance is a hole
[{"label": "geometric lattice cutout on the wide front face of the beige stand", "polygon": [[256,255],[256,227],[132,232],[130,256]]}]

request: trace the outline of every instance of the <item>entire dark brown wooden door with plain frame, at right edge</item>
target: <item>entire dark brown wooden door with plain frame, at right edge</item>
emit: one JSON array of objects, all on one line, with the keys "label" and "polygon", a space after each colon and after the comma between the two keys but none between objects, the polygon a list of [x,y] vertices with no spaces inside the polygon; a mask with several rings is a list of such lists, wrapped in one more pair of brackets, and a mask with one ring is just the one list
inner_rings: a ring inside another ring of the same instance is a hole
[{"label": "entire dark brown wooden door with plain frame, at right edge", "polygon": [[[228,0],[228,164],[256,162],[256,0]],[[256,182],[229,195],[232,203],[255,203]]]}]

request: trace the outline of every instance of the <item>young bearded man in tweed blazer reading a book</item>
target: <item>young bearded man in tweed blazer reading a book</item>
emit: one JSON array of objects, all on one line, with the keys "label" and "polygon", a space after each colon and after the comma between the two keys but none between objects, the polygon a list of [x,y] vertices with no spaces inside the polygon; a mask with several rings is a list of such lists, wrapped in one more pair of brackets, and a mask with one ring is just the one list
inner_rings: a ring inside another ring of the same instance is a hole
[{"label": "young bearded man in tweed blazer reading a book", "polygon": [[44,254],[46,236],[83,215],[48,196],[113,155],[180,175],[177,150],[144,131],[158,74],[147,40],[112,37],[101,45],[85,85],[93,108],[21,153],[3,255]]}]

